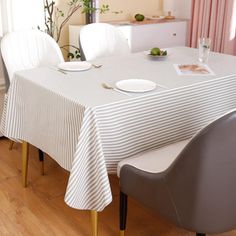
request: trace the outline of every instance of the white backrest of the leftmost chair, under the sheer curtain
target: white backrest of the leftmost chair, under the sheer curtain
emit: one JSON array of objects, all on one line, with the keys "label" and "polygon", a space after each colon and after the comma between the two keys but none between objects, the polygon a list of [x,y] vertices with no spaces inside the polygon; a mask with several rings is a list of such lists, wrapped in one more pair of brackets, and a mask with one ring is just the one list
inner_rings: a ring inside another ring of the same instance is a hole
[{"label": "white backrest of the leftmost chair, under the sheer curtain", "polygon": [[16,71],[63,62],[62,52],[48,34],[39,30],[15,31],[1,41],[2,57],[11,81]]}]

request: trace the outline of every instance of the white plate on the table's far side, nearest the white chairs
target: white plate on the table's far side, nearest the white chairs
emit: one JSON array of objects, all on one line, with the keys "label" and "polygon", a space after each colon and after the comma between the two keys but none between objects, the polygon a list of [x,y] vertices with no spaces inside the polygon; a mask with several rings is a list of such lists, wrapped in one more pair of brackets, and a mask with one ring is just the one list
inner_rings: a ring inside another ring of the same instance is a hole
[{"label": "white plate on the table's far side, nearest the white chairs", "polygon": [[89,70],[92,67],[92,64],[87,61],[69,61],[62,62],[57,67],[66,71],[84,71]]}]

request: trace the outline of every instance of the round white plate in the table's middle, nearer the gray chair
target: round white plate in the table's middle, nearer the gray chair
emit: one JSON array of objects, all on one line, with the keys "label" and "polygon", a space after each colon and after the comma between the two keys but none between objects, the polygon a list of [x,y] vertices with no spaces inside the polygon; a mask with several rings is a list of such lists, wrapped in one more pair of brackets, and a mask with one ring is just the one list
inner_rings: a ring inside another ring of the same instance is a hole
[{"label": "round white plate in the table's middle, nearer the gray chair", "polygon": [[150,80],[127,79],[116,82],[116,87],[127,92],[142,93],[154,90],[156,84]]}]

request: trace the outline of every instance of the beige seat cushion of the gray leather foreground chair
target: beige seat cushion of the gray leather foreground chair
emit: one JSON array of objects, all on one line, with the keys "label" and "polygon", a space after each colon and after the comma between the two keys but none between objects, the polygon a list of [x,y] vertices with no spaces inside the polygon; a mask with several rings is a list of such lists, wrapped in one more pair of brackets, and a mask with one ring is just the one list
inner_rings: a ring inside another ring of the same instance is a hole
[{"label": "beige seat cushion of the gray leather foreground chair", "polygon": [[162,148],[146,151],[118,163],[117,175],[124,165],[131,165],[142,171],[159,173],[166,170],[177,158],[190,139],[164,146]]}]

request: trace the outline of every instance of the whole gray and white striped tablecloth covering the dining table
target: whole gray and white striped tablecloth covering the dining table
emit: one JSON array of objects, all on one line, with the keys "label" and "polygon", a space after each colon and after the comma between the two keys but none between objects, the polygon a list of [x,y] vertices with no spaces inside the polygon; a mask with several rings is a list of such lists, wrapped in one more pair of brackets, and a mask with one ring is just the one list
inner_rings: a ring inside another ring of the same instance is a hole
[{"label": "whole gray and white striped tablecloth covering the dining table", "polygon": [[[48,153],[70,171],[66,203],[101,211],[112,201],[108,173],[150,148],[191,137],[236,107],[236,58],[212,54],[215,75],[178,76],[174,63],[193,63],[196,50],[174,48],[165,61],[143,53],[104,58],[103,67],[62,74],[21,71],[8,91],[2,131]],[[120,79],[149,79],[157,88],[128,97],[105,90]]]}]

